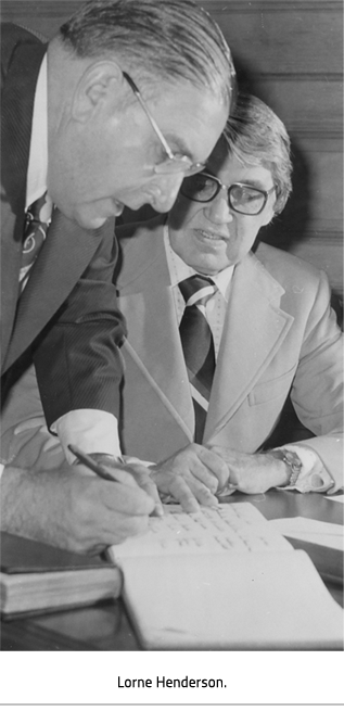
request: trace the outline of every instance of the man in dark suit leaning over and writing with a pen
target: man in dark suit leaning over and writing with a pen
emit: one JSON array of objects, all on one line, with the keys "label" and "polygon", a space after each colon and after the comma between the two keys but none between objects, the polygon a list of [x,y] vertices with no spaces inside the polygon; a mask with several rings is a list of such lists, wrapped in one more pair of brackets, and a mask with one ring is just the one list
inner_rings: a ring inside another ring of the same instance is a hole
[{"label": "man in dark suit leaning over and writing with a pen", "polygon": [[142,530],[156,496],[143,470],[130,472],[148,493],[86,480],[67,446],[119,455],[114,218],[168,211],[203,168],[233,67],[193,0],[90,0],[48,46],[1,25],[0,49],[1,405],[33,358],[71,465],[15,468],[2,443],[0,525],[97,549]]}]

